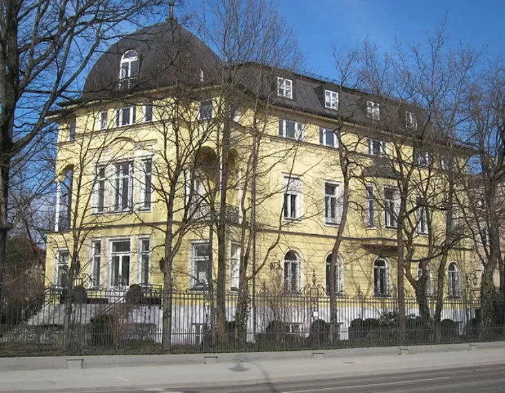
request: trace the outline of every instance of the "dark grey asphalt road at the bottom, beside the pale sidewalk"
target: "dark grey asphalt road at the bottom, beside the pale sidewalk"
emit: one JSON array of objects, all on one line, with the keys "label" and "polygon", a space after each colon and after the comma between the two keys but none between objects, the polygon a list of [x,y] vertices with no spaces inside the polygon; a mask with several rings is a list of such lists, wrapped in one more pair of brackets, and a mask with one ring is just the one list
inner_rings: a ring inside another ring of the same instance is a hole
[{"label": "dark grey asphalt road at the bottom, beside the pale sidewalk", "polygon": [[[247,363],[235,367],[247,369]],[[234,370],[241,371],[241,370]],[[267,379],[268,381],[268,379]],[[457,369],[317,378],[293,383],[270,382],[256,385],[148,387],[132,390],[82,390],[86,393],[503,393],[505,363]]]}]

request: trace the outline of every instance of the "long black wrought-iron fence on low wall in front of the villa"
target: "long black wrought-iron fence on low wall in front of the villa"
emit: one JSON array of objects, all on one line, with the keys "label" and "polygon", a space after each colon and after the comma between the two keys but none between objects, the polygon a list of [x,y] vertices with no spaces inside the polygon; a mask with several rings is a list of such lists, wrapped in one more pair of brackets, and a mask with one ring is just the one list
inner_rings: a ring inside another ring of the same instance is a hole
[{"label": "long black wrought-iron fence on low wall in front of the villa", "polygon": [[[164,305],[172,300],[170,353],[275,351],[501,340],[504,305],[497,323],[483,335],[479,300],[446,298],[441,322],[419,317],[415,298],[406,299],[406,324],[399,332],[395,294],[381,298],[338,296],[333,323],[330,300],[321,287],[297,292],[259,291],[248,297],[244,324],[235,320],[239,296],[224,298],[226,325],[217,329],[217,299],[208,291],[139,287],[47,288],[23,307],[3,307],[0,356],[43,354],[163,353]],[[221,329],[222,330],[222,329]],[[68,337],[66,338],[66,334]],[[165,337],[167,334],[165,334]]]}]

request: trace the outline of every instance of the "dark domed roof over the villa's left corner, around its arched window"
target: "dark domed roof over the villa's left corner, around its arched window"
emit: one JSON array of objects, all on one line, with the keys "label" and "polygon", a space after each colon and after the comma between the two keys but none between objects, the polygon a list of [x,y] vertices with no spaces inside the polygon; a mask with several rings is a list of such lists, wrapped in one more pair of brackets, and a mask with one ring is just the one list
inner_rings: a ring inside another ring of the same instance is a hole
[{"label": "dark domed roof over the villa's left corner, around its arched window", "polygon": [[127,50],[139,55],[139,77],[132,90],[219,81],[221,60],[200,39],[174,19],[133,32],[99,57],[83,89],[83,100],[114,97],[119,91],[119,63]]}]

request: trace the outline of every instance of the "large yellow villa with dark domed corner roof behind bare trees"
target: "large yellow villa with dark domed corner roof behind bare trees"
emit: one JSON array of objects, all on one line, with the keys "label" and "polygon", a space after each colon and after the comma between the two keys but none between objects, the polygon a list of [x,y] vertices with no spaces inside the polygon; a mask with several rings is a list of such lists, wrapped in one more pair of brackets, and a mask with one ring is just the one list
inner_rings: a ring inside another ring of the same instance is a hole
[{"label": "large yellow villa with dark domed corner roof behind bare trees", "polygon": [[[170,67],[181,47],[192,59],[188,73],[182,76]],[[163,161],[160,152],[175,146],[164,145],[160,129],[172,127],[164,122],[164,107],[167,102],[173,103],[170,100],[178,94],[177,86],[184,82],[184,86],[194,87],[188,97],[194,102],[195,122],[186,126],[193,127],[195,133],[212,122],[215,127],[197,146],[197,170],[189,171],[191,178],[186,184],[178,184],[183,196],[176,207],[184,211],[185,204],[194,206],[188,220],[197,224],[181,243],[174,279],[178,289],[208,287],[210,253],[216,252],[217,244],[209,245],[206,220],[214,216],[207,197],[219,178],[216,141],[220,126],[215,113],[221,104],[218,74],[224,66],[210,48],[181,26],[174,28],[172,21],[121,39],[98,59],[82,98],[64,104],[67,112],[59,128],[56,164],[57,218],[47,244],[48,284],[61,285],[79,232],[79,264],[91,285],[162,285],[159,260],[164,255],[161,229],[166,223],[166,205],[154,190],[164,184],[164,175],[157,170]],[[395,124],[411,131],[420,122],[419,114],[405,106],[398,118],[397,111],[379,97],[317,77],[269,69],[260,78],[261,65],[240,67],[250,77],[244,78],[237,97],[260,86],[258,96],[269,104],[268,112],[264,112],[268,119],[262,119],[268,143],[259,151],[258,169],[268,171],[257,179],[257,197],[263,200],[257,207],[255,261],[250,263],[256,267],[264,263],[255,280],[257,287],[279,278],[285,291],[301,291],[315,274],[321,285],[334,279],[338,291],[347,296],[391,296],[396,285],[398,198],[395,176],[388,169],[388,160],[395,154],[392,137],[382,124],[396,116]],[[271,86],[275,86],[272,91],[268,90]],[[263,94],[267,90],[268,94]],[[244,200],[244,173],[248,173],[251,154],[250,130],[255,126],[252,107],[245,104],[237,109],[231,125],[228,170],[232,186],[227,191],[229,209],[224,223],[230,291],[239,285],[238,266],[244,247],[241,225],[250,220],[242,216],[240,202]],[[337,273],[330,278],[328,261],[341,218],[342,188],[339,139],[334,130],[343,118],[342,137],[354,146],[362,175],[351,180],[353,209],[348,215]],[[415,155],[413,146],[405,149],[417,157],[419,166],[428,166],[433,157],[444,154],[442,146],[433,146],[433,152]],[[89,153],[87,158],[85,153]],[[459,154],[463,157],[466,153],[462,149]],[[437,168],[444,169],[442,166]],[[419,250],[428,247],[427,217],[428,211],[420,208],[415,236]],[[444,231],[443,213],[434,213],[433,217],[439,231]],[[182,220],[182,214],[177,213],[176,221]],[[275,247],[267,251],[272,244]],[[475,269],[471,249],[462,242],[450,251],[449,261],[445,291],[450,297],[458,297],[465,272]],[[432,265],[435,276],[436,262]],[[417,266],[413,271],[417,275]],[[411,291],[408,282],[406,286]],[[430,287],[434,286],[432,282]]]}]

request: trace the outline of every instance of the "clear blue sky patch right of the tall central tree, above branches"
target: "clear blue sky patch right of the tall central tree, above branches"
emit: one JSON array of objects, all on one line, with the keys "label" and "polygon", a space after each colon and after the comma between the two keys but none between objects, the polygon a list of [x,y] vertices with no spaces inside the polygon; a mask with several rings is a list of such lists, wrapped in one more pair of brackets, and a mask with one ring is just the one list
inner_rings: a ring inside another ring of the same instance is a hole
[{"label": "clear blue sky patch right of the tall central tree, above branches", "polygon": [[368,37],[379,50],[426,41],[447,15],[451,44],[504,55],[505,0],[277,0],[313,73],[332,77],[332,46],[353,48]]}]

